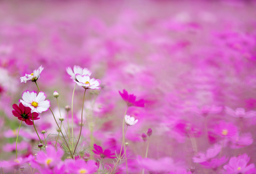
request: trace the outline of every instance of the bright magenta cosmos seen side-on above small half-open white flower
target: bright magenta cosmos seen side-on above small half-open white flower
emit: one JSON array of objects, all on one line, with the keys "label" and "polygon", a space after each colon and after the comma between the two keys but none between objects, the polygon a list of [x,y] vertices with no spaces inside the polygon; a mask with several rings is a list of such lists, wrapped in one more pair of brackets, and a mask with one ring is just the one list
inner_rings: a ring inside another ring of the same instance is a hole
[{"label": "bright magenta cosmos seen side-on above small half-open white flower", "polygon": [[126,90],[123,90],[123,93],[119,91],[119,94],[121,95],[122,99],[127,103],[128,106],[144,107],[144,104],[145,104],[144,99],[135,101],[136,96],[134,96],[133,94],[128,94]]}]

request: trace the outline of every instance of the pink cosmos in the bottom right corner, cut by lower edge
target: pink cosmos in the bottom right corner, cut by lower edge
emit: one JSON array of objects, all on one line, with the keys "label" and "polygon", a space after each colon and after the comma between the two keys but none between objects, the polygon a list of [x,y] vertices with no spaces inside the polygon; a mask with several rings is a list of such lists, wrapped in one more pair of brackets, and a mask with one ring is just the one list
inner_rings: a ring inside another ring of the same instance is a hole
[{"label": "pink cosmos in the bottom right corner, cut by lower edge", "polygon": [[254,168],[254,164],[247,165],[249,160],[250,157],[247,154],[231,157],[229,163],[223,168],[227,170],[228,174],[248,174]]}]

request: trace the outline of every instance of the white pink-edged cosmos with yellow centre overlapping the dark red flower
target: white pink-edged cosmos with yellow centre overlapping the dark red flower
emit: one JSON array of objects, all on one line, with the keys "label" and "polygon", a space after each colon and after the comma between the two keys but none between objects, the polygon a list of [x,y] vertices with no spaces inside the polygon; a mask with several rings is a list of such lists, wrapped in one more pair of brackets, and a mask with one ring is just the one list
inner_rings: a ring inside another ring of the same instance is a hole
[{"label": "white pink-edged cosmos with yellow centre overlapping the dark red flower", "polygon": [[22,94],[22,99],[19,100],[24,106],[31,108],[32,112],[42,113],[49,109],[50,107],[50,101],[45,100],[46,95],[44,92],[39,92],[38,96],[35,91],[29,92],[29,90],[26,90]]}]

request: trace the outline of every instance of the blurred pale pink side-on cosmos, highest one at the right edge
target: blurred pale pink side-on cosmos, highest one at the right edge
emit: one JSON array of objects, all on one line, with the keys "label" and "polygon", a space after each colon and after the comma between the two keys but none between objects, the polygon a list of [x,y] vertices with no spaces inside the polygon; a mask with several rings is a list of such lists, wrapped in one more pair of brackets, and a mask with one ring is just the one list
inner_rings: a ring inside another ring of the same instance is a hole
[{"label": "blurred pale pink side-on cosmos, highest one at the right edge", "polygon": [[251,118],[256,116],[256,111],[248,111],[245,112],[244,108],[236,108],[236,110],[232,110],[229,107],[226,107],[226,113],[230,116],[233,117],[238,117],[238,118]]}]

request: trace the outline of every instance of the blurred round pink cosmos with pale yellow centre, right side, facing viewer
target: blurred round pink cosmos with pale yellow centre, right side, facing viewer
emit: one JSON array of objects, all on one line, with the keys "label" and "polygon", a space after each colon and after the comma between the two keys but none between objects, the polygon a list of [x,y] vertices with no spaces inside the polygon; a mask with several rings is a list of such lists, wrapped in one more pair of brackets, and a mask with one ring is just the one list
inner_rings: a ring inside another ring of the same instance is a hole
[{"label": "blurred round pink cosmos with pale yellow centre, right side, facing viewer", "polygon": [[217,135],[222,137],[231,137],[236,135],[237,127],[232,122],[221,121],[215,126],[214,131]]}]

